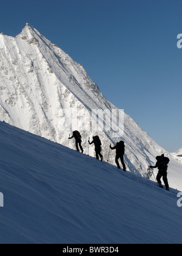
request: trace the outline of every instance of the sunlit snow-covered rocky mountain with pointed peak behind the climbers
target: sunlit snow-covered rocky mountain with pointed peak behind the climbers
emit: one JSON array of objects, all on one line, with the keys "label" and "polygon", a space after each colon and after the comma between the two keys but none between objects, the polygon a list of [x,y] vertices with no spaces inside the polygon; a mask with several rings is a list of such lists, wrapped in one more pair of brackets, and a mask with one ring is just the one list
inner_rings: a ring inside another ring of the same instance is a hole
[{"label": "sunlit snow-covered rocky mountain with pointed peak behind the climbers", "polygon": [[[30,24],[15,38],[0,35],[0,89],[0,120],[35,135],[68,146],[69,134],[79,130],[84,152],[94,155],[87,141],[98,134],[105,160],[109,144],[122,139],[126,143],[127,169],[142,175],[155,162],[155,156],[165,152],[126,113],[122,137],[114,137],[113,128],[106,129],[110,114],[99,116],[98,129],[93,130],[97,122],[91,118],[93,110],[110,113],[117,108],[104,98],[82,65]],[[112,124],[116,126],[117,122],[113,112]],[[73,140],[69,147],[75,149]],[[110,152],[109,162],[115,164],[114,159],[115,152]]]}]

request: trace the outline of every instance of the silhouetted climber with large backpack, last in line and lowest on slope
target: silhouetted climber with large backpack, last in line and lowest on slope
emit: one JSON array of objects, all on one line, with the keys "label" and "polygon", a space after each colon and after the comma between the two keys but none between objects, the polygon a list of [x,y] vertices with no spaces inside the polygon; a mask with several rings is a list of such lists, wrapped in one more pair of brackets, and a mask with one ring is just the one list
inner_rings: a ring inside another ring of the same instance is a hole
[{"label": "silhouetted climber with large backpack, last in line and lowest on slope", "polygon": [[157,182],[160,188],[163,188],[163,185],[161,183],[161,177],[163,177],[164,184],[166,186],[166,190],[169,191],[169,183],[167,180],[167,168],[169,163],[169,158],[164,157],[164,154],[161,156],[156,157],[157,163],[155,166],[150,166],[150,168],[158,168],[158,174],[157,174]]}]

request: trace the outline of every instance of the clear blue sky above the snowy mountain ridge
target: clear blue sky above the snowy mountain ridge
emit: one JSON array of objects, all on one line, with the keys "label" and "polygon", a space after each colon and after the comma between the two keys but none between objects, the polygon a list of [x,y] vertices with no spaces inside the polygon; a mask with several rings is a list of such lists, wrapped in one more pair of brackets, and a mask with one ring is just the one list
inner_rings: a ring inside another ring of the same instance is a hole
[{"label": "clear blue sky above the snowy mountain ridge", "polygon": [[1,0],[0,32],[30,23],[167,151],[182,146],[181,0]]}]

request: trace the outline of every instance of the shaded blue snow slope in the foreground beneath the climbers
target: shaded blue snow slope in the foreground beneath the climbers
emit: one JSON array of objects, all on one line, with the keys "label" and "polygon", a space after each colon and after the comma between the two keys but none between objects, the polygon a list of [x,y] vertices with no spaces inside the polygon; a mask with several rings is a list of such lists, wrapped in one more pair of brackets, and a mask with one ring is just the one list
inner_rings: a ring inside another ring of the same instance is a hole
[{"label": "shaded blue snow slope in the foreground beneath the climbers", "polygon": [[0,122],[0,243],[182,243],[177,191]]}]

